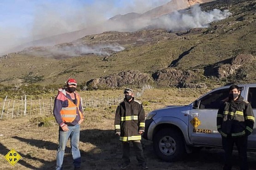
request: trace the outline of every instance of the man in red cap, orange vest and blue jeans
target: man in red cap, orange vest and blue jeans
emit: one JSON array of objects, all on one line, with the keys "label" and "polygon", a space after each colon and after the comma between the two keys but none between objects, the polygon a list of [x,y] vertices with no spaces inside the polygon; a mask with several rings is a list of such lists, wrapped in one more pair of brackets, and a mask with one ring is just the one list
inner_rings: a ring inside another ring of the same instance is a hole
[{"label": "man in red cap, orange vest and blue jeans", "polygon": [[67,88],[59,89],[54,101],[54,117],[59,127],[59,146],[57,150],[56,170],[62,170],[65,147],[68,139],[71,141],[71,152],[75,170],[81,167],[81,155],[78,148],[80,124],[83,122],[81,97],[76,92],[77,81],[68,79]]}]

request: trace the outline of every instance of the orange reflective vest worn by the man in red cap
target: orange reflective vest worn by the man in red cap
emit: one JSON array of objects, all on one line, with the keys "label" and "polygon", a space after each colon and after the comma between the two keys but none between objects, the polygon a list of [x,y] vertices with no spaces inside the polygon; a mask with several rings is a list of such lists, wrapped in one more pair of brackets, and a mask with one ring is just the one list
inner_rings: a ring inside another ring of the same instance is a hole
[{"label": "orange reflective vest worn by the man in red cap", "polygon": [[[60,94],[65,96],[63,93],[60,93]],[[77,105],[65,96],[65,98],[68,101],[68,107],[61,108],[61,110],[60,110],[60,115],[61,115],[63,122],[71,123],[72,121],[74,121],[77,117],[77,110],[79,112],[80,119],[83,118],[83,114],[79,110],[80,96],[76,93],[75,93],[75,95],[76,95],[76,99],[77,99]]]}]

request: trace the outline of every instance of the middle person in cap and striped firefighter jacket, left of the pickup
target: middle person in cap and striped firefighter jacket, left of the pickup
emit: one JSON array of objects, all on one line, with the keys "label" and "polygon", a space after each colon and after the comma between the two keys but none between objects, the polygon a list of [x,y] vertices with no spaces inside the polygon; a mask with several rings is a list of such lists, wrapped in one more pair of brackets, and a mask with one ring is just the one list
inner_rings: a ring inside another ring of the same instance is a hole
[{"label": "middle person in cap and striped firefighter jacket, left of the pickup", "polygon": [[119,104],[115,114],[115,133],[122,142],[121,169],[130,165],[130,142],[136,152],[136,158],[142,169],[148,169],[143,155],[141,135],[145,129],[145,112],[140,102],[134,100],[133,91],[129,88],[124,91],[125,99]]}]

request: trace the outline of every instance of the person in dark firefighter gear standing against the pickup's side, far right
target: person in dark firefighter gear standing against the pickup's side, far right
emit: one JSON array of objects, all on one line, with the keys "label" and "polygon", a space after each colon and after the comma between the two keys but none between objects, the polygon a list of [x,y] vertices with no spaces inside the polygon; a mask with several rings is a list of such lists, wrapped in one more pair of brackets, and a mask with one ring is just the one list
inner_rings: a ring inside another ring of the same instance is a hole
[{"label": "person in dark firefighter gear standing against the pickup's side, far right", "polygon": [[223,170],[232,169],[232,150],[234,143],[238,148],[240,170],[248,170],[247,139],[253,131],[254,114],[249,102],[244,101],[237,85],[229,87],[228,100],[218,110],[217,130],[222,137],[225,151]]}]

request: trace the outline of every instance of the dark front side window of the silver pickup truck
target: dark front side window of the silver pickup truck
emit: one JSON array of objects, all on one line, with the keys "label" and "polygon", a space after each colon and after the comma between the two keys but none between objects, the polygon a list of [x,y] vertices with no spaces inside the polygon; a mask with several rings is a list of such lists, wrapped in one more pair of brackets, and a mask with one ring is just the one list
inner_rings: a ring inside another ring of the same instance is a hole
[{"label": "dark front side window of the silver pickup truck", "polygon": [[221,101],[228,97],[228,88],[214,91],[200,99],[199,109],[219,109]]}]

